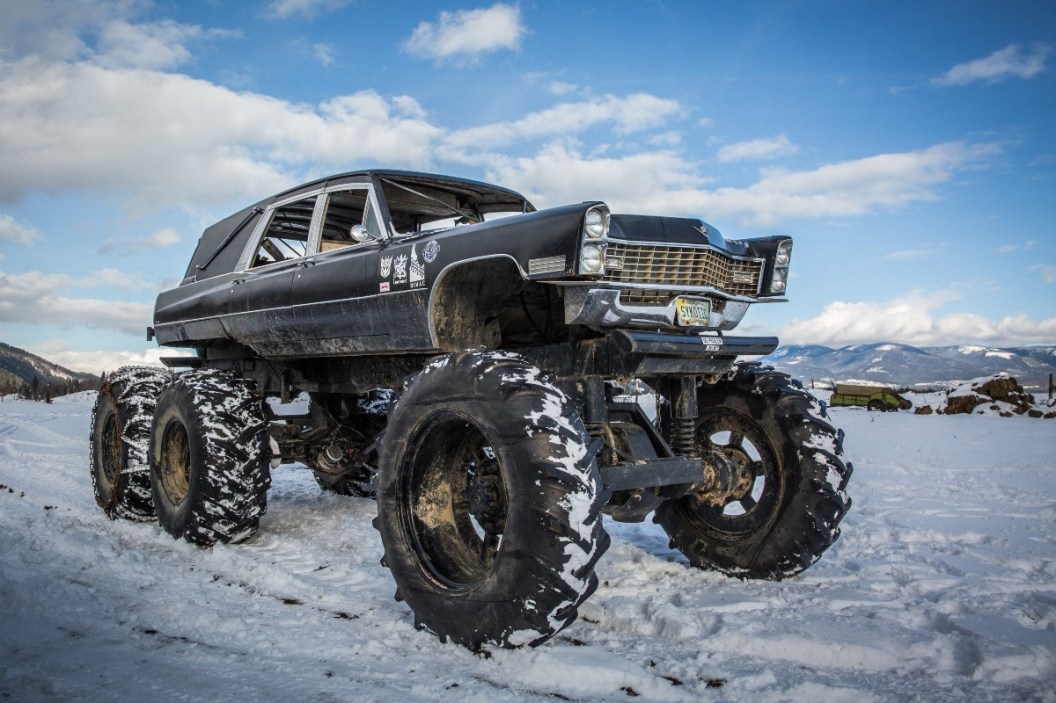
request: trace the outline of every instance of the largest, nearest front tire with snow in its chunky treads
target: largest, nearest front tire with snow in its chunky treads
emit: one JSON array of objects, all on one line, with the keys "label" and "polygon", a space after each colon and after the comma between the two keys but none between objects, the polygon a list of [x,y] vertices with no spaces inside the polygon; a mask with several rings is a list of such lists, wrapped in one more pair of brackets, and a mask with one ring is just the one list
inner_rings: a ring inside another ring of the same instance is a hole
[{"label": "largest, nearest front tire with snow in its chunky treads", "polygon": [[579,413],[514,355],[431,363],[390,408],[378,518],[415,625],[476,649],[538,645],[576,620],[608,548]]}]

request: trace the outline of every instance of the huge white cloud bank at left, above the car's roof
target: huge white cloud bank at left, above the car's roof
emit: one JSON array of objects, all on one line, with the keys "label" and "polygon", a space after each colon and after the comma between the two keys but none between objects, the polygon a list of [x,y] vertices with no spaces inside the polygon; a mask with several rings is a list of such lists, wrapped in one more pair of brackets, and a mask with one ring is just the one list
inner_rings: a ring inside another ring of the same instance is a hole
[{"label": "huge white cloud bank at left, above the car's roof", "polygon": [[0,201],[114,189],[158,207],[223,202],[307,169],[427,167],[442,132],[409,97],[365,91],[313,107],[86,62],[0,62]]}]

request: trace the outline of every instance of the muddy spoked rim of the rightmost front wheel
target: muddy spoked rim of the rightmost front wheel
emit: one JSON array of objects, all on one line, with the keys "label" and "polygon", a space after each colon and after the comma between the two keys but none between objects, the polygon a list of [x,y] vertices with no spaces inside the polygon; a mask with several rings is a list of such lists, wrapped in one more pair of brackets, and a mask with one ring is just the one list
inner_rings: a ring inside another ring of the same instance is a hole
[{"label": "muddy spoked rim of the rightmost front wheel", "polygon": [[720,452],[730,459],[739,479],[721,506],[692,499],[697,519],[729,535],[758,532],[774,516],[782,492],[778,454],[766,432],[756,420],[737,413],[704,415],[697,424],[697,443],[704,452]]}]

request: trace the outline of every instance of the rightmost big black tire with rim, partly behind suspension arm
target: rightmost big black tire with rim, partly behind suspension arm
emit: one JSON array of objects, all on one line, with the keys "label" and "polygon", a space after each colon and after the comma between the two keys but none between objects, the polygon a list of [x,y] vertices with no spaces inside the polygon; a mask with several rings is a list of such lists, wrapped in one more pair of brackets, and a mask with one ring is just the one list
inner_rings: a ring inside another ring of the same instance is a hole
[{"label": "rightmost big black tire with rim, partly behind suspension arm", "polygon": [[852,467],[824,406],[788,376],[754,365],[703,386],[698,404],[698,446],[723,452],[750,478],[722,506],[693,494],[661,505],[655,521],[672,547],[696,567],[747,578],[780,580],[814,564],[851,505]]}]

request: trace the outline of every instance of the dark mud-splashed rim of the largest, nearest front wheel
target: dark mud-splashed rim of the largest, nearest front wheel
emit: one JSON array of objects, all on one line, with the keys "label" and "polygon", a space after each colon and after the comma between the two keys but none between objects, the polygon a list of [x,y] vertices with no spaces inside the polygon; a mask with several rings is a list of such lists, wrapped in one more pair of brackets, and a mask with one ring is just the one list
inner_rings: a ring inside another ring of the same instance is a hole
[{"label": "dark mud-splashed rim of the largest, nearest front wheel", "polygon": [[483,584],[503,549],[507,489],[484,432],[442,413],[412,438],[400,467],[400,513],[418,563],[440,588]]}]

